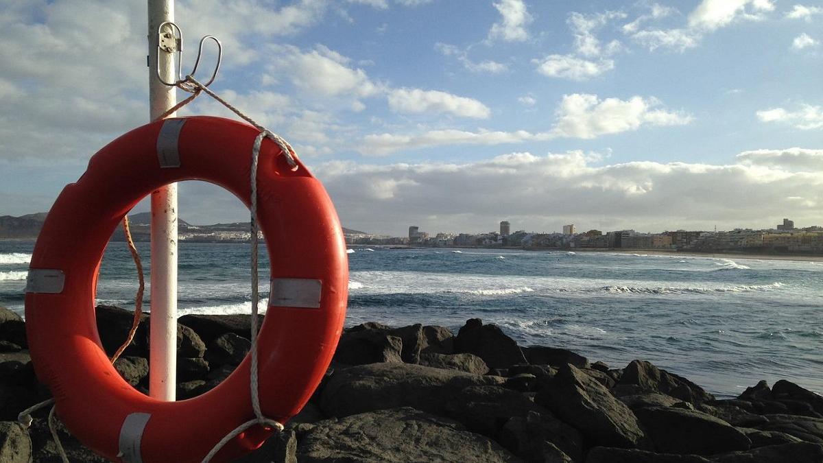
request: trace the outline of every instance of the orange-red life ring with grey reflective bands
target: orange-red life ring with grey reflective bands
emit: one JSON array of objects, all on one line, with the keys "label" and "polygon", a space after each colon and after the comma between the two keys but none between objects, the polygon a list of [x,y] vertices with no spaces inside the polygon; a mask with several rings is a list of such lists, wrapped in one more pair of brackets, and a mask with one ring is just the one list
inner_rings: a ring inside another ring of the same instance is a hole
[{"label": "orange-red life ring with grey reflective bands", "polygon": [[[222,437],[254,418],[249,356],[226,381],[193,399],[154,400],[129,386],[100,344],[94,302],[109,237],[146,194],[180,180],[205,180],[249,205],[257,135],[247,124],[216,117],[146,124],[97,152],[49,212],[26,287],[30,354],[60,419],[109,460],[201,461]],[[285,423],[309,400],[332,360],[346,315],[348,264],[323,185],[305,166],[292,171],[280,154],[264,139],[258,222],[272,265],[272,297],[258,337],[258,371],[263,414]],[[249,428],[216,460],[259,447],[269,433]]]}]

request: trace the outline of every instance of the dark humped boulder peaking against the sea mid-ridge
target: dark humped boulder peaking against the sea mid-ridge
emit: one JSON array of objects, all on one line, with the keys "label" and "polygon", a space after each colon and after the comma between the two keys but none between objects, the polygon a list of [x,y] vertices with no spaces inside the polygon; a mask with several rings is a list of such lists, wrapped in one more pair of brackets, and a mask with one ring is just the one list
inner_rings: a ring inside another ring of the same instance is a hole
[{"label": "dark humped boulder peaking against the sea mid-ridge", "polygon": [[526,363],[526,358],[514,339],[509,338],[496,325],[482,325],[479,319],[468,320],[460,329],[454,339],[454,350],[458,353],[473,353],[490,368]]}]

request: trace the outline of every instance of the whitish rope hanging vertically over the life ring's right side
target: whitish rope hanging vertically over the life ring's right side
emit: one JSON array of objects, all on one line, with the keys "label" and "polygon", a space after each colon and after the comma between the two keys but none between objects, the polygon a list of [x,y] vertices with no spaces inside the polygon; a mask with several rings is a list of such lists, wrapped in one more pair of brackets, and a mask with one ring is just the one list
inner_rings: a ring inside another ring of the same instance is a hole
[{"label": "whitish rope hanging vertically over the life ring's right side", "polygon": [[[208,90],[207,90],[208,92]],[[239,114],[239,113],[238,113]],[[268,426],[270,428],[274,428],[280,433],[283,430],[283,425],[278,423],[273,419],[268,419],[263,416],[263,411],[260,409],[260,394],[258,389],[258,303],[260,302],[260,294],[258,292],[258,222],[257,222],[257,171],[258,171],[258,158],[260,157],[260,146],[263,144],[263,138],[271,138],[272,133],[269,132],[267,129],[261,129],[260,133],[258,134],[257,138],[254,138],[254,144],[252,146],[252,165],[251,165],[251,189],[252,189],[252,197],[251,197],[251,233],[252,233],[252,320],[251,320],[251,379],[249,381],[251,386],[251,398],[252,398],[252,409],[254,411],[254,419],[250,419],[249,421],[239,425],[230,433],[226,434],[226,437],[223,437],[220,442],[217,442],[216,446],[212,448],[212,451],[208,452],[208,455],[203,458],[203,463],[207,463],[208,461],[212,461],[212,458],[220,451],[223,446],[226,445],[231,439],[239,436],[240,433],[244,432],[246,429],[251,428],[255,424],[259,424],[262,426]],[[279,137],[278,137],[279,138]],[[277,143],[277,142],[276,142]],[[287,144],[287,143],[286,143]],[[281,147],[283,149],[283,147]],[[283,151],[285,154],[286,151]]]}]

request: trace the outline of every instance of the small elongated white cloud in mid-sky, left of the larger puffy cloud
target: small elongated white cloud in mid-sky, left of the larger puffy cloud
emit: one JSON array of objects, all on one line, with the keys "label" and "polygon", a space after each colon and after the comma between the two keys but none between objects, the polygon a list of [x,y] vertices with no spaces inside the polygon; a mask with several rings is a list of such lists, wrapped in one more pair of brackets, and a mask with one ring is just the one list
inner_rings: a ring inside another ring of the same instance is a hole
[{"label": "small elongated white cloud in mid-sky, left of the larger puffy cloud", "polygon": [[398,88],[388,93],[388,107],[398,113],[445,113],[461,117],[486,119],[491,115],[486,105],[473,98],[455,96],[445,91]]}]

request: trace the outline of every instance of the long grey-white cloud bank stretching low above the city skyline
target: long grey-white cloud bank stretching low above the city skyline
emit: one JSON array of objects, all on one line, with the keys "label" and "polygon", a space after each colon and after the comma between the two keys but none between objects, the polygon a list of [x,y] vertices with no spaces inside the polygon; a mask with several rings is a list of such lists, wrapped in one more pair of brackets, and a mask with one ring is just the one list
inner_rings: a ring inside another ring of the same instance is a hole
[{"label": "long grey-white cloud bank stretching low above the city skyline", "polygon": [[347,227],[393,235],[409,223],[428,232],[480,232],[500,217],[518,229],[547,232],[569,217],[590,224],[584,227],[653,231],[770,227],[787,215],[820,222],[823,175],[816,172],[742,163],[602,166],[597,158],[572,151],[514,152],[463,164],[333,161],[315,166],[314,174]]}]

